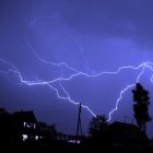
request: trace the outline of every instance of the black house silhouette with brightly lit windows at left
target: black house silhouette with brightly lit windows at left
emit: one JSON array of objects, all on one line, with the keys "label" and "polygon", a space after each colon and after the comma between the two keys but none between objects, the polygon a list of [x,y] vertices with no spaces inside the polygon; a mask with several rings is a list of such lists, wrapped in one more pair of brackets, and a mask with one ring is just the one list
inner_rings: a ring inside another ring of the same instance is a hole
[{"label": "black house silhouette with brightly lit windows at left", "polygon": [[38,139],[37,120],[32,110],[16,111],[11,115],[12,138],[15,141],[32,141]]}]

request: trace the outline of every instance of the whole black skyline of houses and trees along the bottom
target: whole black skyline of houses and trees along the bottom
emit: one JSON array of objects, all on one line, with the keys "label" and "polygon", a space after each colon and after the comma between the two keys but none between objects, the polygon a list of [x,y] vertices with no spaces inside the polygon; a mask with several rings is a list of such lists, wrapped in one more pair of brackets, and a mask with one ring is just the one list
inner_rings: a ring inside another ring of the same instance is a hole
[{"label": "whole black skyline of houses and trees along the bottom", "polygon": [[[56,125],[37,121],[32,110],[10,114],[0,108],[1,149],[71,152],[91,149],[153,149],[153,141],[145,133],[146,122],[151,121],[148,111],[149,92],[137,83],[132,93],[133,114],[138,126],[119,121],[108,123],[105,115],[97,115],[89,122],[87,136],[58,132]],[[79,108],[81,123],[80,114],[81,105]]]}]

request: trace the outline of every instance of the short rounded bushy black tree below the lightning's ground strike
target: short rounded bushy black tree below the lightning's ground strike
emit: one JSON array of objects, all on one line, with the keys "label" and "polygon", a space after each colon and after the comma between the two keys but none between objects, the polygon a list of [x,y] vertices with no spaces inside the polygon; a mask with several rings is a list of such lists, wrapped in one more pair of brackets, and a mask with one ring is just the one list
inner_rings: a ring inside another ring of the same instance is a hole
[{"label": "short rounded bushy black tree below the lightning's ground strike", "polygon": [[94,140],[104,140],[106,130],[108,129],[108,122],[105,115],[93,117],[90,121],[89,134]]}]

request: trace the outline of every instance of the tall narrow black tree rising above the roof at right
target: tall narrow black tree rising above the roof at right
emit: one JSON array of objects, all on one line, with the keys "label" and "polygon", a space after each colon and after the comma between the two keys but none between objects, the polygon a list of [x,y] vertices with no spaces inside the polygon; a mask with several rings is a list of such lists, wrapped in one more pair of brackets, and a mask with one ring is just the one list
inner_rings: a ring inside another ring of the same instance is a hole
[{"label": "tall narrow black tree rising above the roof at right", "polygon": [[136,84],[133,93],[133,111],[138,126],[142,131],[146,130],[146,122],[151,120],[149,115],[150,96],[149,92],[140,83]]}]

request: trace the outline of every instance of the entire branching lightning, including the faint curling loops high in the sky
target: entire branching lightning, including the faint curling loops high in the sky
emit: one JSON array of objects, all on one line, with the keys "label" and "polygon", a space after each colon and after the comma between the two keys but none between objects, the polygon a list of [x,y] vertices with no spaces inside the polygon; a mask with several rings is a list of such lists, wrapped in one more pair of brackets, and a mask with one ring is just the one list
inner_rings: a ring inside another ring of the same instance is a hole
[{"label": "entire branching lightning, including the faint curling loops high in the sky", "polygon": [[[32,28],[32,26],[34,26],[36,24],[37,21],[39,21],[42,17],[44,16],[39,16],[37,19],[35,19],[33,22],[31,22],[31,25],[25,34],[25,39],[27,37],[27,33],[30,31],[30,28]],[[49,16],[52,17],[52,16]],[[85,55],[83,52],[83,48],[80,45],[80,43],[71,36],[71,38],[73,39],[73,42],[75,44],[79,45],[80,48],[80,52],[85,61],[85,68],[89,71],[87,68],[87,59],[85,58]],[[70,94],[68,93],[67,89],[62,85],[62,82],[66,81],[71,81],[74,78],[78,76],[85,76],[85,78],[97,78],[97,76],[103,76],[103,75],[118,75],[121,71],[123,70],[136,70],[136,71],[140,71],[136,78],[136,81],[131,84],[127,84],[119,93],[119,97],[116,99],[115,102],[115,108],[113,108],[109,114],[108,114],[108,119],[107,121],[111,120],[111,116],[113,114],[118,110],[119,107],[119,103],[121,102],[123,94],[126,92],[128,92],[130,89],[134,87],[136,83],[140,81],[140,78],[144,74],[145,69],[150,69],[151,72],[153,72],[153,62],[142,62],[139,66],[134,67],[134,66],[121,66],[119,67],[117,70],[115,71],[102,71],[98,73],[94,74],[92,73],[86,73],[86,72],[82,72],[71,66],[69,66],[67,62],[52,62],[52,61],[47,61],[46,59],[42,58],[35,50],[35,48],[31,45],[31,43],[26,39],[26,45],[28,46],[28,48],[31,49],[31,51],[35,55],[36,59],[49,67],[56,67],[56,68],[60,68],[60,70],[62,70],[63,68],[71,71],[71,74],[69,74],[69,76],[63,76],[62,74],[56,79],[49,80],[49,81],[45,81],[45,80],[39,80],[39,79],[33,79],[33,80],[26,80],[23,74],[17,70],[17,68],[11,63],[10,61],[7,61],[5,59],[3,59],[2,57],[0,57],[0,64],[2,64],[3,67],[0,67],[0,73],[2,74],[13,74],[22,84],[28,85],[28,86],[33,86],[33,85],[46,85],[49,89],[54,90],[57,97],[62,99],[62,101],[68,101],[73,105],[79,105],[80,102],[75,102],[71,98]],[[7,70],[5,70],[7,69]],[[91,71],[89,71],[91,72]],[[151,82],[153,83],[153,74],[151,76]],[[64,93],[64,95],[60,94],[60,91],[58,87],[55,87],[55,84],[58,84],[58,86],[60,87],[60,90]],[[82,104],[82,103],[81,103]],[[89,106],[82,105],[83,108],[85,108],[92,116],[96,117],[96,114],[90,109]]]}]

